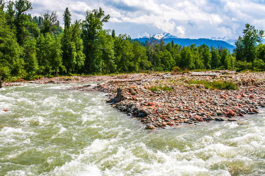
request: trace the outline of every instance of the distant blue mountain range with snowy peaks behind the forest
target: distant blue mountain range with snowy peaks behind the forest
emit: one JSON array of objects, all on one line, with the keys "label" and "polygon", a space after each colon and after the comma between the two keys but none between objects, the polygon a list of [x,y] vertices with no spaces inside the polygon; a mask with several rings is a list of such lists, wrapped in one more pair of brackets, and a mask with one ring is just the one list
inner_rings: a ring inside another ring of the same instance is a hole
[{"label": "distant blue mountain range with snowy peaks behind the forest", "polygon": [[[196,44],[196,46],[199,46],[202,44],[206,44],[209,47],[213,46],[215,48],[219,48],[219,47],[227,48],[231,52],[233,52],[233,49],[235,48],[235,46],[233,45],[235,44],[235,40],[231,40],[228,38],[212,37],[211,39],[183,39],[183,38],[178,38],[176,36],[173,36],[170,33],[155,34],[154,38],[156,38],[157,40],[163,39],[163,41],[166,44],[171,43],[173,41],[174,44],[179,44],[182,46],[189,46],[191,44]],[[141,38],[136,38],[135,40],[145,43],[145,41],[148,41],[148,39],[149,37],[144,36]]]}]

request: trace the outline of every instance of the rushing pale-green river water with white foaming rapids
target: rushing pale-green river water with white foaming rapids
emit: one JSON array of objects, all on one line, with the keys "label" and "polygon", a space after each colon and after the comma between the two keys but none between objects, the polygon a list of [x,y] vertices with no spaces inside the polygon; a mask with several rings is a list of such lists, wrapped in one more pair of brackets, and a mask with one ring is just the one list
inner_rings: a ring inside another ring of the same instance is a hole
[{"label": "rushing pale-green river water with white foaming rapids", "polygon": [[239,122],[147,131],[106,104],[105,93],[72,86],[0,89],[0,176],[265,174],[265,110]]}]

